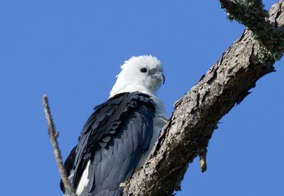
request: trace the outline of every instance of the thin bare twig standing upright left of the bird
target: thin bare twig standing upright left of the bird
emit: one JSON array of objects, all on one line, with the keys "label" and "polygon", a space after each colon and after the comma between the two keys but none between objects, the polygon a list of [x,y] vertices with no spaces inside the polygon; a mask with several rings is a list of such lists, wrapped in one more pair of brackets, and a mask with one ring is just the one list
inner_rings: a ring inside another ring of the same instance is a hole
[{"label": "thin bare twig standing upright left of the bird", "polygon": [[58,141],[57,141],[59,132],[55,132],[55,125],[53,123],[53,117],[51,116],[50,108],[48,104],[48,96],[46,95],[43,96],[43,108],[45,111],[46,120],[48,122],[48,134],[50,137],[50,142],[53,145],[53,154],[55,156],[56,162],[58,163],[58,170],[59,170],[59,173],[62,179],[62,183],[68,195],[75,196],[76,195],[75,190],[74,188],[72,188],[72,185],[70,184],[68,180],[67,172],[62,163],[60,149],[58,147]]}]

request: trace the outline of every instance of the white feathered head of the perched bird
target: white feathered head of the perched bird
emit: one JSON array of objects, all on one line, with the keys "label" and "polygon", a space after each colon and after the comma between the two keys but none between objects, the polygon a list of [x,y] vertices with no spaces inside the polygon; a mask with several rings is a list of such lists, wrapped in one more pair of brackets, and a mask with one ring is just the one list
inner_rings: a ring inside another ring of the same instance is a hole
[{"label": "white feathered head of the perched bird", "polygon": [[162,83],[165,83],[163,67],[151,55],[131,57],[121,66],[121,72],[111,89],[110,97],[118,93],[139,91],[155,96]]}]

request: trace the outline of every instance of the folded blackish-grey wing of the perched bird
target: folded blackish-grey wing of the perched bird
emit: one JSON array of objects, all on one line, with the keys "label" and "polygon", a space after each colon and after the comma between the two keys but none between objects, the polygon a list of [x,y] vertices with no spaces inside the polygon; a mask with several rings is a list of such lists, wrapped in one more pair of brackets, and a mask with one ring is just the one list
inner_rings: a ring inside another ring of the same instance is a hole
[{"label": "folded blackish-grey wing of the perched bird", "polygon": [[77,144],[72,184],[77,187],[90,160],[82,195],[121,195],[119,184],[131,177],[151,142],[155,103],[143,93],[121,93],[95,109]]}]

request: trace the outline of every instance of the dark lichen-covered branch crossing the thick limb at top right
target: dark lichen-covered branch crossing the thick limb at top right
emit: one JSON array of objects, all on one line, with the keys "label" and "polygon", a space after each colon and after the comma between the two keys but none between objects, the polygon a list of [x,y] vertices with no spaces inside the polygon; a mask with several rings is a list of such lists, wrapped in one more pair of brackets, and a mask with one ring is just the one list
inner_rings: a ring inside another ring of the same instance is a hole
[{"label": "dark lichen-covered branch crossing the thick limb at top right", "polygon": [[[219,0],[226,9],[229,20],[236,20],[246,25],[256,39],[261,41],[263,50],[271,53],[278,60],[284,50],[284,31],[278,28],[275,21],[268,20],[268,12],[263,9],[261,0]],[[280,1],[280,4],[283,0]],[[263,61],[265,62],[265,60]]]}]

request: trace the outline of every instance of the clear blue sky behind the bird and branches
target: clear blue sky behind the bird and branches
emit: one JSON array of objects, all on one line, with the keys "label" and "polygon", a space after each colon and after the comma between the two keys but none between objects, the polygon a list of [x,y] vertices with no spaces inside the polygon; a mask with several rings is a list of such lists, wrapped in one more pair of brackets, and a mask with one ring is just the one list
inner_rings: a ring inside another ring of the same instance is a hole
[{"label": "clear blue sky behind the bird and branches", "polygon": [[[263,1],[266,7],[275,1]],[[163,63],[168,115],[238,38],[219,1],[0,1],[1,195],[61,195],[41,98],[47,93],[66,158],[119,66]],[[177,195],[283,195],[284,66],[222,118],[208,170],[190,165]]]}]

